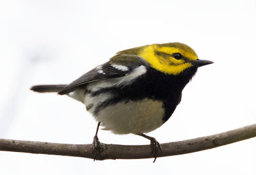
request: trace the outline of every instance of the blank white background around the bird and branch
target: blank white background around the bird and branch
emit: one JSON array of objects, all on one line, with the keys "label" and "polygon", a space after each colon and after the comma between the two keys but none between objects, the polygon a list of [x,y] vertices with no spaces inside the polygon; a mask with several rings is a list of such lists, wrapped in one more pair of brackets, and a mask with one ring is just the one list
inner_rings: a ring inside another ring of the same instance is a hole
[{"label": "blank white background around the bird and branch", "polygon": [[[256,123],[256,1],[0,1],[0,138],[90,144],[82,103],[29,91],[69,83],[120,50],[182,42],[198,70],[172,118],[148,133],[181,141]],[[148,144],[99,131],[101,142]],[[1,174],[256,174],[256,139],[188,155],[105,160],[0,152]]]}]

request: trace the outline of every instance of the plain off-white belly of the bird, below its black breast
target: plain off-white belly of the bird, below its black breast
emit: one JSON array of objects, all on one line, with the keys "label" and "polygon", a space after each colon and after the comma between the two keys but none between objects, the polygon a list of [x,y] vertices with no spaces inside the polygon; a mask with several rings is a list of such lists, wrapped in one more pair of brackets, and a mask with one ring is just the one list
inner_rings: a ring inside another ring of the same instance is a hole
[{"label": "plain off-white belly of the bird, below its black breast", "polygon": [[147,133],[163,124],[163,102],[145,98],[140,101],[120,102],[101,110],[97,121],[104,130],[116,134]]}]

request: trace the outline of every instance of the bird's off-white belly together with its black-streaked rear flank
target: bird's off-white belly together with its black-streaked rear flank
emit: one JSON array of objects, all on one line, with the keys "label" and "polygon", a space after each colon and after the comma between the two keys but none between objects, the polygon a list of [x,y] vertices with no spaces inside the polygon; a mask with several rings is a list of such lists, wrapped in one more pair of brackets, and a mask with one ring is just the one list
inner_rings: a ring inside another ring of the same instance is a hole
[{"label": "bird's off-white belly together with its black-streaked rear flank", "polygon": [[161,100],[143,98],[141,100],[122,100],[108,103],[113,95],[100,93],[85,97],[89,112],[104,126],[116,134],[147,133],[163,125],[164,109]]}]

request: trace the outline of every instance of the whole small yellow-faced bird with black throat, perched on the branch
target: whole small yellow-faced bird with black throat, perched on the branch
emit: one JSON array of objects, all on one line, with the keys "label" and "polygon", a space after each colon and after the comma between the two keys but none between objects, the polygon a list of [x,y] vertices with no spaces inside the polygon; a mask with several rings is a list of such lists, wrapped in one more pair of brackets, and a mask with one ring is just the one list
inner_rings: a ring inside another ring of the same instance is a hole
[{"label": "whole small yellow-faced bird with black throat, perched on the branch", "polygon": [[172,116],[197,68],[212,63],[198,59],[183,43],[145,45],[118,52],[70,84],[38,85],[31,90],[68,95],[84,103],[98,121],[93,138],[95,158],[102,150],[97,137],[101,125],[115,134],[133,133],[150,140],[156,161],[161,145],[145,133]]}]

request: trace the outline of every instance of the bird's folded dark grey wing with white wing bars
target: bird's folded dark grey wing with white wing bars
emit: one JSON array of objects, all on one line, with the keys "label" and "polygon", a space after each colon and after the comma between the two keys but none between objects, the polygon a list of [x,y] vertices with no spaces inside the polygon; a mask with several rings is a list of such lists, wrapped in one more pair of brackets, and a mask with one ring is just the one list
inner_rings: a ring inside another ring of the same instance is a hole
[{"label": "bird's folded dark grey wing with white wing bars", "polygon": [[93,68],[93,70],[84,73],[84,75],[65,86],[65,88],[61,89],[58,94],[68,94],[79,86],[83,86],[88,82],[123,77],[133,72],[135,68],[138,68],[138,66],[141,65],[148,66],[147,61],[145,61],[143,57],[128,54],[117,54],[116,56],[111,57],[107,63],[99,65]]}]

